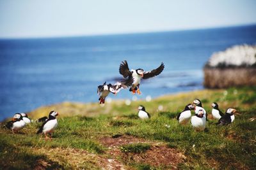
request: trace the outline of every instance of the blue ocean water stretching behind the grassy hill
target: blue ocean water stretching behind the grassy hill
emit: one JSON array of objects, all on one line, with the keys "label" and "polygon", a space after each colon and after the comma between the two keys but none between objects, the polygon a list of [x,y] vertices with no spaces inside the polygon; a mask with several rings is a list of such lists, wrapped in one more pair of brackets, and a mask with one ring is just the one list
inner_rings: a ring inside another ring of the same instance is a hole
[{"label": "blue ocean water stretching behind the grassy hill", "polygon": [[[256,25],[191,31],[0,39],[0,120],[43,105],[98,102],[97,86],[122,78],[119,66],[163,73],[141,82],[138,99],[204,89],[203,67],[212,53],[256,44]],[[111,99],[132,99],[122,90]]]}]

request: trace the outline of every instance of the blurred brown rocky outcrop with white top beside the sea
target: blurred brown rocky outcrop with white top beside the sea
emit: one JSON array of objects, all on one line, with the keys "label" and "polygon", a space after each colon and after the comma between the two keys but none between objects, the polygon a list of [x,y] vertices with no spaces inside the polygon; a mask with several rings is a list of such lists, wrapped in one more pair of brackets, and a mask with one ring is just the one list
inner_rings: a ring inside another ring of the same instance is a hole
[{"label": "blurred brown rocky outcrop with white top beside the sea", "polygon": [[256,85],[256,46],[241,45],[213,53],[204,67],[204,86],[226,88]]}]

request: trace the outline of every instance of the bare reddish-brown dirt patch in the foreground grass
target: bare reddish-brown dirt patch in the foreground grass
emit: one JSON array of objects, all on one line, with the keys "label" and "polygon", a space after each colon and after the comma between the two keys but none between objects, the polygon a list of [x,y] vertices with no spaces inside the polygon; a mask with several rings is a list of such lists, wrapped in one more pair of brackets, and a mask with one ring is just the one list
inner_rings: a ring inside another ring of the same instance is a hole
[{"label": "bare reddish-brown dirt patch in the foreground grass", "polygon": [[[177,169],[177,164],[184,162],[186,157],[175,148],[169,148],[164,143],[147,141],[134,136],[118,136],[117,138],[104,137],[100,139],[102,145],[108,146],[108,153],[114,158],[120,158],[125,164],[149,164],[153,167],[170,167]],[[122,145],[148,143],[150,149],[145,153],[124,153],[120,150]]]}]

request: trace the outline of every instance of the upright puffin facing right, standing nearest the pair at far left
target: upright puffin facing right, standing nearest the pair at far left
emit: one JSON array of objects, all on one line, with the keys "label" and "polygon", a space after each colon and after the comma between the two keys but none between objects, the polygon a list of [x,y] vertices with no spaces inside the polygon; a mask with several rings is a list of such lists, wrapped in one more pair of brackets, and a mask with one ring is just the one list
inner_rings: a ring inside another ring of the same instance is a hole
[{"label": "upright puffin facing right, standing nearest the pair at far left", "polygon": [[42,126],[36,132],[36,134],[44,133],[45,139],[48,138],[47,134],[50,134],[52,137],[52,132],[58,125],[58,121],[56,119],[56,116],[58,116],[58,115],[59,115],[59,113],[57,113],[56,111],[51,111],[49,113],[49,118],[46,120],[46,122],[44,122],[44,124],[42,124]]}]

